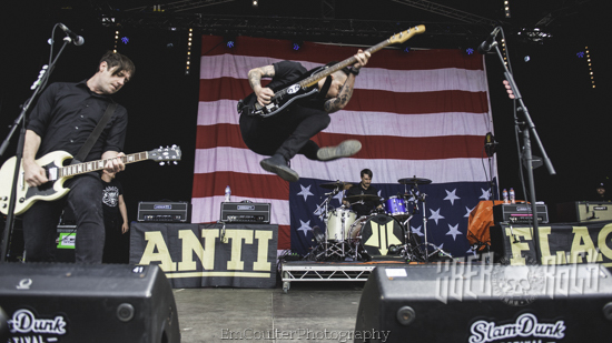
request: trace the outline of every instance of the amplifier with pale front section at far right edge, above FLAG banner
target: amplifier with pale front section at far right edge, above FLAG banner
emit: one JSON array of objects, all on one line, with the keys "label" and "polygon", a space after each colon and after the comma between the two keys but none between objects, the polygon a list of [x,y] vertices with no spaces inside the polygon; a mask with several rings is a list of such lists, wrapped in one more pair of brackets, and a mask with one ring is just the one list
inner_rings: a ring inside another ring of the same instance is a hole
[{"label": "amplifier with pale front section at far right edge, above FLAG banner", "polygon": [[575,201],[556,204],[560,222],[596,222],[612,220],[612,202]]}]

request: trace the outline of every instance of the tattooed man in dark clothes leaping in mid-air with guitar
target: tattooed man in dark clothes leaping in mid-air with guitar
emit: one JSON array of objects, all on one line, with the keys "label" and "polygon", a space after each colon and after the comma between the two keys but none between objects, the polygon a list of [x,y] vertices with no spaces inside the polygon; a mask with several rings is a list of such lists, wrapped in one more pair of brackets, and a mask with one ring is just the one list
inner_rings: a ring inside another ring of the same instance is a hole
[{"label": "tattooed man in dark clothes leaping in mid-air with guitar", "polygon": [[[355,59],[357,62],[351,69],[336,71],[319,80],[318,98],[299,99],[282,113],[268,118],[240,115],[240,132],[245,144],[258,154],[270,157],[259,163],[263,169],[283,180],[296,182],[299,175],[288,167],[288,162],[296,154],[304,154],[315,161],[330,161],[351,157],[362,149],[362,143],[357,140],[346,140],[336,147],[325,148],[319,148],[310,140],[329,125],[329,113],[346,107],[353,95],[355,78],[359,74],[359,69],[367,63],[369,52],[359,49]],[[248,81],[257,102],[266,105],[274,95],[273,89],[289,85],[305,73],[307,70],[300,63],[280,61],[251,69],[248,72]],[[263,78],[272,78],[272,82],[267,87],[261,87]]]}]

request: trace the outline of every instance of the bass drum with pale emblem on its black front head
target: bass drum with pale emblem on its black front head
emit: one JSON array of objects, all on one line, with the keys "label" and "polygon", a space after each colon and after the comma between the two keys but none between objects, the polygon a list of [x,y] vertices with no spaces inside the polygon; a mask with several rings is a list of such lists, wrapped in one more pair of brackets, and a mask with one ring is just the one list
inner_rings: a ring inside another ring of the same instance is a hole
[{"label": "bass drum with pale emblem on its black front head", "polygon": [[387,214],[376,214],[367,219],[359,232],[361,245],[371,256],[395,255],[389,248],[401,249],[405,243],[402,223]]}]

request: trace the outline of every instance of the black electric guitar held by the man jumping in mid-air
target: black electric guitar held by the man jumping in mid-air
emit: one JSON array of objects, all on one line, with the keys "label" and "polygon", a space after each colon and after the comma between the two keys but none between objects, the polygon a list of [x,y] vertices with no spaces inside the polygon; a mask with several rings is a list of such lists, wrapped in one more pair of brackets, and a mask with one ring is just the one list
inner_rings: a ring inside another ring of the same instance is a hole
[{"label": "black electric guitar held by the man jumping in mid-air", "polygon": [[[406,31],[399,32],[392,36],[391,38],[379,42],[378,44],[367,49],[371,54],[395,43],[403,43],[411,39],[415,34],[425,32],[425,26],[417,26]],[[254,117],[270,117],[275,115],[287,107],[289,107],[294,101],[308,97],[316,97],[318,93],[317,82],[328,75],[335,73],[336,71],[353,65],[357,62],[354,56],[351,58],[336,63],[330,67],[316,68],[306,74],[302,75],[298,80],[295,80],[289,87],[282,89],[273,89],[274,97],[270,99],[270,103],[263,107],[257,102],[257,95],[250,93],[245,99],[238,101],[238,113],[243,115],[254,115]]]}]

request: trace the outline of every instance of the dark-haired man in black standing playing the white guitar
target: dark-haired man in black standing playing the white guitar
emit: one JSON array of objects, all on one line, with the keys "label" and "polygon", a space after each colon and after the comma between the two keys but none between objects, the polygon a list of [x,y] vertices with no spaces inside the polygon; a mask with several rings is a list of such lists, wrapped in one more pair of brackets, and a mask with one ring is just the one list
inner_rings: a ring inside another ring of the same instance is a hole
[{"label": "dark-haired man in black standing playing the white guitar", "polygon": [[[42,92],[27,125],[23,147],[23,172],[29,186],[48,182],[45,169],[36,159],[57,150],[76,155],[85,144],[107,107],[110,95],[119,91],[135,73],[130,59],[107,52],[93,77],[78,83],[58,82]],[[125,155],[127,110],[117,105],[102,133],[85,161],[111,159],[105,165],[109,172],[125,170],[116,157]],[[100,263],[105,244],[102,216],[102,183],[97,172],[69,179],[68,195],[57,201],[38,201],[23,213],[23,239],[28,262],[52,262],[57,224],[66,203],[77,218],[76,262]]]}]

